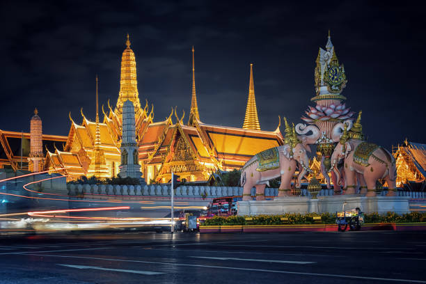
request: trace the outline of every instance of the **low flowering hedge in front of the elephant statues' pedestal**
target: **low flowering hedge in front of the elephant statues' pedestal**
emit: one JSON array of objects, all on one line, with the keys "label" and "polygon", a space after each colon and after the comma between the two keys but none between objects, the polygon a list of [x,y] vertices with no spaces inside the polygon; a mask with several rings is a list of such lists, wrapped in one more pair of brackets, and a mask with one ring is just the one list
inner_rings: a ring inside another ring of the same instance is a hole
[{"label": "low flowering hedge in front of the elephant statues' pedestal", "polygon": [[[282,224],[313,224],[313,217],[321,216],[321,223],[336,223],[336,214],[332,213],[287,213],[283,215],[259,215],[251,216],[246,220],[244,216],[221,217],[214,216],[206,219],[201,226],[221,226],[221,225],[282,225]],[[288,221],[282,221],[281,218],[287,218]],[[426,212],[411,212],[408,214],[396,214],[388,212],[386,214],[370,213],[364,214],[365,223],[416,223],[426,222]]]}]

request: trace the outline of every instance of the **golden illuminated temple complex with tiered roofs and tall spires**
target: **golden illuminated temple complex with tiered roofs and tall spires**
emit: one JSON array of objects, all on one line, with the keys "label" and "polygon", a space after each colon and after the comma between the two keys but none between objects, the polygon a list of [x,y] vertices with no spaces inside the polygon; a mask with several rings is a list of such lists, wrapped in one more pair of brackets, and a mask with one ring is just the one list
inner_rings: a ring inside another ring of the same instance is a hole
[{"label": "golden illuminated temple complex with tiered roofs and tall spires", "polygon": [[[241,168],[256,153],[283,145],[279,125],[272,132],[260,130],[252,65],[243,128],[210,125],[200,120],[203,113],[198,112],[194,47],[189,120],[185,123],[184,115],[178,117],[176,110],[172,109],[166,120],[155,122],[153,107],[149,107],[148,102],[142,107],[139,100],[136,60],[128,35],[126,45],[121,59],[120,92],[116,106],[108,104],[107,109],[102,107],[102,123],[98,119],[90,121],[81,111],[81,123],[77,123],[70,114],[68,136],[43,135],[45,157],[42,168],[45,170],[67,175],[68,180],[82,175],[100,178],[116,176],[120,172],[122,161],[122,114],[123,104],[127,100],[134,105],[139,164],[143,178],[148,183],[168,182],[172,171],[188,181],[207,180],[212,172]],[[19,168],[19,151],[10,150],[5,134],[13,134],[14,139],[19,139],[22,134],[0,131],[3,146],[3,159],[0,162],[16,170]],[[30,135],[26,133],[24,136]],[[28,165],[28,156],[22,156]]]}]

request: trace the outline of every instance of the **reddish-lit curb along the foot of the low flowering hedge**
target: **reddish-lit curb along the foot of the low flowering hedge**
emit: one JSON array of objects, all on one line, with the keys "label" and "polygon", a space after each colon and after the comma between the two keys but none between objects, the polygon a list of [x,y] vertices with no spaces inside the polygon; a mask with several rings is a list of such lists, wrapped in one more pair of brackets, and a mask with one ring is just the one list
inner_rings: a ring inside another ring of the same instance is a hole
[{"label": "reddish-lit curb along the foot of the low flowering hedge", "polygon": [[[200,226],[201,233],[208,232],[333,232],[336,224],[304,224],[304,225],[235,225],[235,226]],[[415,231],[426,230],[426,223],[365,223],[362,231],[394,230]]]}]

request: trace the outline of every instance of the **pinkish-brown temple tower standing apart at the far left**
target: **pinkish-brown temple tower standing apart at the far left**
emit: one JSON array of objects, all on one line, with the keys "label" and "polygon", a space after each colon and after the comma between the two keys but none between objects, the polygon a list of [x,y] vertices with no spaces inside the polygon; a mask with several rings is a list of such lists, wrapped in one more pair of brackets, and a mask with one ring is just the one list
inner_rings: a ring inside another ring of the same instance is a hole
[{"label": "pinkish-brown temple tower standing apart at the far left", "polygon": [[30,154],[29,170],[32,172],[42,171],[43,164],[43,142],[42,142],[42,121],[38,116],[38,110],[34,110],[34,116],[30,124]]}]

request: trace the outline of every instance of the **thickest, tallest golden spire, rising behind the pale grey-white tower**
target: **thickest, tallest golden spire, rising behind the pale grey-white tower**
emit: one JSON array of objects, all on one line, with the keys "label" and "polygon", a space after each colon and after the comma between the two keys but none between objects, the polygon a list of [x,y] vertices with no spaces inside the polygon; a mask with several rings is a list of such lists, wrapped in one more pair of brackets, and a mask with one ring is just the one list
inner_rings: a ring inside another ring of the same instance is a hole
[{"label": "thickest, tallest golden spire, rising behind the pale grey-white tower", "polygon": [[135,118],[141,113],[141,102],[139,101],[138,81],[136,79],[136,60],[134,52],[130,48],[129,34],[127,34],[126,49],[121,57],[120,93],[114,112],[121,118],[123,114],[123,104],[130,100],[134,105]]}]

